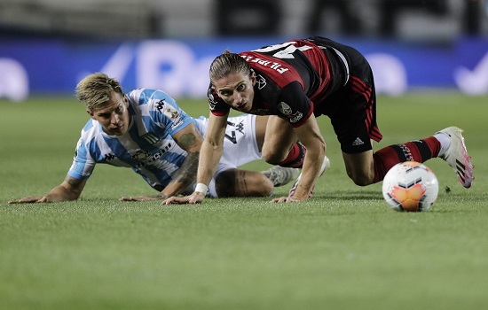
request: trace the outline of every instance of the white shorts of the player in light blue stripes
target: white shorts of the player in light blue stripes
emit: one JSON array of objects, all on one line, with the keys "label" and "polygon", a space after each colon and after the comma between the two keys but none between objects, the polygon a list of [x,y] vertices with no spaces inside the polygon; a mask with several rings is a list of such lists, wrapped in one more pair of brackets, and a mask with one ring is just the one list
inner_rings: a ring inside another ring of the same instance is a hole
[{"label": "white shorts of the player in light blue stripes", "polygon": [[[201,116],[196,120],[202,136],[209,128],[209,120]],[[216,176],[221,172],[261,159],[256,143],[256,115],[243,114],[227,120],[224,138],[224,154],[209,184],[210,196],[216,198]],[[193,185],[194,190],[194,185]]]}]

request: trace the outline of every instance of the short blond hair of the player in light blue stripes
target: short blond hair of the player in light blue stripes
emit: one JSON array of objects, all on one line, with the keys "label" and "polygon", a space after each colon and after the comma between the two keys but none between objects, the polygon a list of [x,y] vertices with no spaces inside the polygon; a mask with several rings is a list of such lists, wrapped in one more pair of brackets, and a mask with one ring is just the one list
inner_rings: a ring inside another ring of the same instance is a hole
[{"label": "short blond hair of the player in light blue stripes", "polygon": [[108,104],[112,91],[123,95],[121,83],[101,73],[87,75],[76,85],[76,97],[91,112]]}]

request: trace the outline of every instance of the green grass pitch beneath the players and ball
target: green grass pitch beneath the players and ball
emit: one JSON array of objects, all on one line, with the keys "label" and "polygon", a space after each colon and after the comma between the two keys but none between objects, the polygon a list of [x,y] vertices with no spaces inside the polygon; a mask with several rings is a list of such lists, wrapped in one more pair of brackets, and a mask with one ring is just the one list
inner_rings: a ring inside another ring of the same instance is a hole
[{"label": "green grass pitch beneath the players and ball", "polygon": [[[332,167],[302,204],[124,203],[117,198],[155,192],[130,169],[99,165],[78,201],[8,205],[62,182],[88,115],[69,97],[0,101],[0,309],[485,309],[488,97],[378,101],[376,150],[459,126],[473,187],[432,159],[437,203],[426,213],[392,211],[381,184],[361,188],[346,176],[321,117]],[[208,114],[204,100],[180,105]]]}]

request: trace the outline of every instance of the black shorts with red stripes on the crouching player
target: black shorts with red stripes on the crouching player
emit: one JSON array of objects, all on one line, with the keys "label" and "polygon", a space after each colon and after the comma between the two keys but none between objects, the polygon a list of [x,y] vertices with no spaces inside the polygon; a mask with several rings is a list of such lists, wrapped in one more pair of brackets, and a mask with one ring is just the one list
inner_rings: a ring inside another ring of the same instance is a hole
[{"label": "black shorts with red stripes on the crouching player", "polygon": [[[370,139],[379,142],[382,134],[376,124],[376,93],[373,72],[366,58],[356,49],[332,40],[312,37],[324,46],[331,63],[333,84],[322,102],[314,103],[315,116],[327,115],[345,153],[373,149]],[[348,76],[349,74],[349,76]],[[339,76],[339,79],[335,77]]]}]

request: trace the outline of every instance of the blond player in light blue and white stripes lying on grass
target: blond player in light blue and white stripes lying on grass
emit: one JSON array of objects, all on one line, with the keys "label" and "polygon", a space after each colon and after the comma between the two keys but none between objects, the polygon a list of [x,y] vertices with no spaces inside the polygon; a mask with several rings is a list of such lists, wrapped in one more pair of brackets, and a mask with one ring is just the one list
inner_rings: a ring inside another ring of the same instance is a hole
[{"label": "blond player in light blue and white stripes lying on grass", "polygon": [[[86,105],[91,120],[82,130],[65,180],[45,195],[10,203],[75,200],[80,197],[96,164],[130,167],[159,191],[157,195],[121,200],[162,200],[193,192],[202,136],[209,124],[207,119],[189,116],[161,90],[134,89],[124,94],[119,81],[106,74],[85,77],[76,86],[76,97]],[[216,168],[208,196],[272,194],[273,183],[276,184],[277,180],[256,171],[237,168],[261,159],[266,123],[267,117],[254,115],[229,119],[225,155]],[[289,175],[280,174],[287,176],[287,180],[279,180],[280,185],[296,176],[288,171],[292,168],[282,169]]]}]

